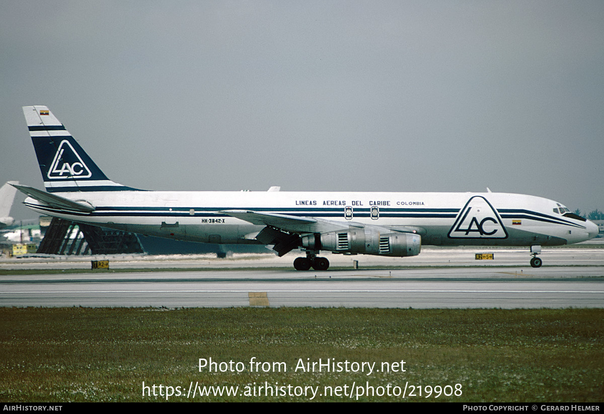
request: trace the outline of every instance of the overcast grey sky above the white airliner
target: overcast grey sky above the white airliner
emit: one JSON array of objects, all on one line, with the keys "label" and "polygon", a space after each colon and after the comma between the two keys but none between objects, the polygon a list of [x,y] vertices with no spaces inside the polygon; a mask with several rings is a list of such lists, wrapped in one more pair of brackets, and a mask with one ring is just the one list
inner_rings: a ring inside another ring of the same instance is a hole
[{"label": "overcast grey sky above the white airliner", "polygon": [[43,188],[21,106],[47,105],[141,189],[603,210],[603,22],[601,0],[0,0],[0,181]]}]

